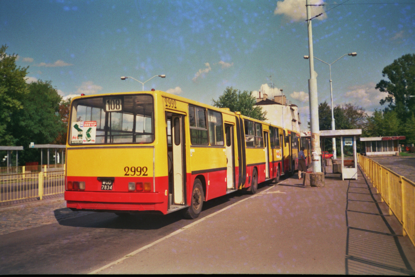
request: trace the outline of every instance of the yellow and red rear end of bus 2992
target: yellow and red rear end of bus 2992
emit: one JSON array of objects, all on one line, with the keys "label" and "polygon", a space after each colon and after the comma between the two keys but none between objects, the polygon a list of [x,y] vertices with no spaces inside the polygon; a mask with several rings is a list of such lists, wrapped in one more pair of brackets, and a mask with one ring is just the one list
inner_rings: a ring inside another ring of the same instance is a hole
[{"label": "yellow and red rear end of bus 2992", "polygon": [[164,132],[165,127],[157,123],[154,107],[152,92],[73,99],[66,145],[68,208],[166,213],[167,169],[154,167],[156,126]]}]

